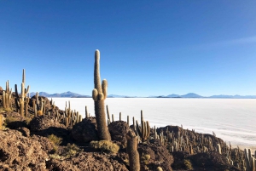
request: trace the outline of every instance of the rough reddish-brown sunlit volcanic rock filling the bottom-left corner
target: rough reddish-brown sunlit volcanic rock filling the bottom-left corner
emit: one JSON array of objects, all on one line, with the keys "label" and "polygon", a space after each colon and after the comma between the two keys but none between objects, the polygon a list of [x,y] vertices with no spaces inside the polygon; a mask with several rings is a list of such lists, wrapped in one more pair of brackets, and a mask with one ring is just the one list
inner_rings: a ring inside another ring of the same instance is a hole
[{"label": "rough reddish-brown sunlit volcanic rock filling the bottom-left corner", "polygon": [[24,137],[19,131],[0,131],[1,170],[47,170],[47,153],[36,140]]}]

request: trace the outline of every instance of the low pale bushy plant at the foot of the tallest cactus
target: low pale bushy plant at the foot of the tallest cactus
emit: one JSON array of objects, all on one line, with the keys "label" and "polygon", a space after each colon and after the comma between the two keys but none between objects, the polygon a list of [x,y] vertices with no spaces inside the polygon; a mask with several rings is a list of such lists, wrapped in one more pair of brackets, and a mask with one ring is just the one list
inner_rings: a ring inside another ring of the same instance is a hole
[{"label": "low pale bushy plant at the foot of the tallest cactus", "polygon": [[91,141],[90,147],[101,151],[107,151],[110,153],[117,153],[119,151],[119,145],[116,145],[108,140]]}]

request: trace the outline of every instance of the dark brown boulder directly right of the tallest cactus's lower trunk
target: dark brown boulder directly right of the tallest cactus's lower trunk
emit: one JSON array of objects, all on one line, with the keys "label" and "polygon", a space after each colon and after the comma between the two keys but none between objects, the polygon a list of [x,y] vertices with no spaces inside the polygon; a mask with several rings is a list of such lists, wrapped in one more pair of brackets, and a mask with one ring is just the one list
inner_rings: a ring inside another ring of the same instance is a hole
[{"label": "dark brown boulder directly right of the tallest cactus's lower trunk", "polygon": [[129,125],[124,121],[115,121],[108,125],[109,133],[111,134],[111,140],[116,141],[121,148],[126,147],[127,140],[125,138],[129,131]]}]

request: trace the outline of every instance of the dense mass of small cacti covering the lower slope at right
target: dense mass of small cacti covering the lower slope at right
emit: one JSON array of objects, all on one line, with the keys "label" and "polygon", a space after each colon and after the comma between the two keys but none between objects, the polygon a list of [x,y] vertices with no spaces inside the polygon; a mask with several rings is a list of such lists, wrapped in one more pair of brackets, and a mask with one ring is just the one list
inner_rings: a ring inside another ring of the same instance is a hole
[{"label": "dense mass of small cacti covering the lower slope at right", "polygon": [[[241,151],[239,147],[232,149],[232,145],[227,145],[221,140],[216,138],[216,134],[195,134],[195,130],[189,131],[188,129],[180,129],[177,134],[173,131],[170,132],[168,128],[165,131],[157,133],[154,128],[154,139],[159,139],[162,145],[166,145],[169,151],[188,151],[190,154],[207,151],[217,151],[224,157],[230,165],[234,165],[237,168],[243,170],[253,170],[253,163],[255,162],[255,156],[252,157],[250,150]],[[215,141],[213,142],[213,138]],[[217,142],[216,142],[217,140]],[[253,162],[254,159],[254,162]],[[249,168],[250,167],[250,168]],[[255,164],[254,164],[255,169]],[[254,170],[253,170],[254,171]],[[256,170],[255,170],[256,171]]]}]

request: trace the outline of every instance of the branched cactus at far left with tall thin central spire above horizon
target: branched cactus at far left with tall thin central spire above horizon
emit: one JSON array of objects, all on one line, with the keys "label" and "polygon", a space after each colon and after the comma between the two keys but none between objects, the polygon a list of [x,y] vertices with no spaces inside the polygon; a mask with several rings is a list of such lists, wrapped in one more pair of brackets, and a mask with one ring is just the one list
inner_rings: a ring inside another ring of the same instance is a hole
[{"label": "branched cactus at far left with tall thin central spire above horizon", "polygon": [[20,111],[20,116],[24,117],[24,101],[26,98],[26,94],[29,91],[29,86],[25,88],[25,70],[23,69],[23,74],[22,74],[22,83],[21,83],[21,94],[19,95],[18,93],[18,87],[17,84],[15,84],[15,95],[16,95],[16,106],[17,106],[17,111]]}]

